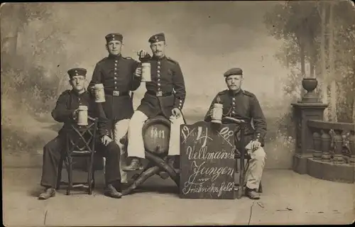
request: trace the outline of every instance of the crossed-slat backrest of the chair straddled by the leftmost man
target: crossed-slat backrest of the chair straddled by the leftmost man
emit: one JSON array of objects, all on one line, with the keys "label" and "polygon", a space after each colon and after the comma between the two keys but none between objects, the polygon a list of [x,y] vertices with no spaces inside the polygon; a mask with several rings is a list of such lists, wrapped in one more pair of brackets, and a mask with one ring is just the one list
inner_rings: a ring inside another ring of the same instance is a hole
[{"label": "crossed-slat backrest of the chair straddled by the leftmost man", "polygon": [[67,153],[94,153],[97,118],[89,117],[89,125],[70,124],[66,131]]}]

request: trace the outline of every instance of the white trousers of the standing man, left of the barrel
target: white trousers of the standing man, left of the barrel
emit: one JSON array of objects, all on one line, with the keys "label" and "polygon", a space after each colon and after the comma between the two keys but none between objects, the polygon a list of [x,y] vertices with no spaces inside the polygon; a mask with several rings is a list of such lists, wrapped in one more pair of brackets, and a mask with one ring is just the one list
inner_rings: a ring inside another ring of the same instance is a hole
[{"label": "white trousers of the standing man, left of the barrel", "polygon": [[[121,182],[127,183],[127,173],[122,170],[123,166],[126,166],[126,148],[125,146],[119,142],[119,140],[126,135],[129,128],[129,119],[123,119],[114,124],[114,128],[112,129],[112,139],[114,140],[121,150],[121,158],[119,161],[119,172],[121,172]],[[105,159],[106,161],[106,159]]]}]

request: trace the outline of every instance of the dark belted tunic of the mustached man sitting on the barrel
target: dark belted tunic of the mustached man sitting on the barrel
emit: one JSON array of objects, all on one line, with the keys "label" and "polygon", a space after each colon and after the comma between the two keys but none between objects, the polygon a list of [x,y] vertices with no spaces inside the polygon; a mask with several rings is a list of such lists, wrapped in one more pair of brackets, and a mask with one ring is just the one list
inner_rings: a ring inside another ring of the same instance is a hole
[{"label": "dark belted tunic of the mustached man sitting on the barrel", "polygon": [[185,102],[185,82],[180,65],[170,57],[150,57],[151,82],[146,82],[144,95],[138,111],[148,118],[158,114],[169,118],[174,108],[182,109]]}]

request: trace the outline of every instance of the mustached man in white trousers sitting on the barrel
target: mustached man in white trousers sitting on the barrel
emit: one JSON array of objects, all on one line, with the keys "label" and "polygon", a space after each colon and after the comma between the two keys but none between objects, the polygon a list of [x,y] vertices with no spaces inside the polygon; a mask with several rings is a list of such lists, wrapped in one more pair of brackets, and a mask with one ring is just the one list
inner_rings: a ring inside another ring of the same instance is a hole
[{"label": "mustached man in white trousers sitting on the barrel", "polygon": [[169,159],[180,155],[180,125],[184,123],[181,109],[186,95],[184,77],[179,63],[165,56],[164,33],[152,35],[148,42],[153,57],[142,63],[151,65],[151,82],[146,82],[146,94],[129,123],[127,152],[133,158],[131,165],[123,167],[125,171],[141,169],[141,159],[145,158],[142,128],[148,118],[159,114],[171,122]]}]

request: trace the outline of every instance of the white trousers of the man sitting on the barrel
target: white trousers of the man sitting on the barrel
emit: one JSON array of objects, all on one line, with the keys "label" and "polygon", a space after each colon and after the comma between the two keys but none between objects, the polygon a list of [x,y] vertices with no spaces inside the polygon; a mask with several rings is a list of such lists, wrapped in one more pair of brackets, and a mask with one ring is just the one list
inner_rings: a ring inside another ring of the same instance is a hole
[{"label": "white trousers of the man sitting on the barrel", "polygon": [[[145,158],[145,150],[142,136],[142,128],[148,120],[148,116],[141,111],[135,111],[129,121],[129,144],[127,147],[128,157]],[[180,155],[180,125],[184,124],[182,116],[170,118],[170,142],[168,155]]]}]

